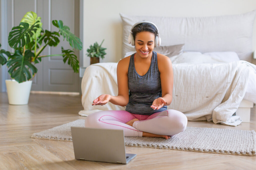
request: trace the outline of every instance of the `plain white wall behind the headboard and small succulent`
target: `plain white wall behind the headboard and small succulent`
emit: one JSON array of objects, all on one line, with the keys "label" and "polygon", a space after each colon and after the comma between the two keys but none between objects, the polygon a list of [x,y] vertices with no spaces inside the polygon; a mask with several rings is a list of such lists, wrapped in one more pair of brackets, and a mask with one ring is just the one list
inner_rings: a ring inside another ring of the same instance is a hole
[{"label": "plain white wall behind the headboard and small succulent", "polygon": [[[86,49],[94,42],[107,48],[100,62],[122,58],[122,21],[119,13],[139,16],[203,17],[243,14],[256,9],[256,0],[84,0],[83,66],[90,65]],[[256,20],[253,49],[256,50]],[[256,63],[256,60],[253,61]]]}]

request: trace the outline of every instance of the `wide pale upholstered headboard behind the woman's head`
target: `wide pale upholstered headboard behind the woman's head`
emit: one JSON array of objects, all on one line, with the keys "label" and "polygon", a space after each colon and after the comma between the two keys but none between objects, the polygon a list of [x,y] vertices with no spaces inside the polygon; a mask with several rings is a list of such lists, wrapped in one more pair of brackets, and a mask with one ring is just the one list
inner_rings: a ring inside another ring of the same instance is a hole
[{"label": "wide pale upholstered headboard behind the woman's head", "polygon": [[215,17],[150,17],[120,14],[123,22],[123,56],[134,47],[128,44],[132,25],[155,23],[163,46],[185,44],[184,51],[234,51],[241,60],[252,61],[252,31],[256,10],[240,15]]}]

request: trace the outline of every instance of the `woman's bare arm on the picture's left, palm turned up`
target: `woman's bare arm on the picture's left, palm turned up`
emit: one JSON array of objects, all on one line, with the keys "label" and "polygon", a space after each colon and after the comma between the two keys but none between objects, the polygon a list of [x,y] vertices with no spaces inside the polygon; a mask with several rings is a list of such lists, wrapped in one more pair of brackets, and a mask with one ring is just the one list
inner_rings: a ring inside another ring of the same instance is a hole
[{"label": "woman's bare arm on the picture's left, palm turned up", "polygon": [[129,101],[129,88],[128,88],[128,67],[130,57],[126,57],[118,62],[117,65],[117,84],[118,96],[111,96],[108,94],[100,95],[97,99],[93,100],[92,105],[104,105],[108,101],[115,105],[126,106]]}]

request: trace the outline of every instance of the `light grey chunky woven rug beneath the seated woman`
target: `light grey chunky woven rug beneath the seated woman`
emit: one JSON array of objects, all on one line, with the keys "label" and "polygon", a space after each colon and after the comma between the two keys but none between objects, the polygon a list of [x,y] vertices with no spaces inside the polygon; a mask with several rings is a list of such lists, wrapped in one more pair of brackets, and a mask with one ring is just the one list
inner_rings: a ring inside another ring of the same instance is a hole
[{"label": "light grey chunky woven rug beneath the seated woman", "polygon": [[[79,119],[39,133],[31,138],[72,141],[71,126],[83,127]],[[125,137],[125,145],[159,149],[256,156],[254,130],[187,127],[184,132],[170,139],[150,137]]]}]

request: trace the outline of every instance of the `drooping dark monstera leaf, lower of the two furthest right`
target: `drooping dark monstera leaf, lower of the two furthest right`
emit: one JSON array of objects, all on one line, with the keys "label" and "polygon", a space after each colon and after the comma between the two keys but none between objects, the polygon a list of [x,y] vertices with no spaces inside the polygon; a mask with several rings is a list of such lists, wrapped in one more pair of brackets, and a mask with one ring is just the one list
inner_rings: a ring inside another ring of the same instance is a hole
[{"label": "drooping dark monstera leaf, lower of the two furthest right", "polygon": [[74,70],[75,73],[79,72],[79,61],[77,60],[77,56],[74,55],[74,51],[68,49],[68,50],[64,50],[63,47],[61,47],[61,51],[62,51],[62,57],[63,57],[63,61],[64,63],[66,63],[66,61],[68,61],[68,64],[72,67],[72,69]]}]

